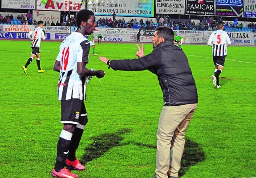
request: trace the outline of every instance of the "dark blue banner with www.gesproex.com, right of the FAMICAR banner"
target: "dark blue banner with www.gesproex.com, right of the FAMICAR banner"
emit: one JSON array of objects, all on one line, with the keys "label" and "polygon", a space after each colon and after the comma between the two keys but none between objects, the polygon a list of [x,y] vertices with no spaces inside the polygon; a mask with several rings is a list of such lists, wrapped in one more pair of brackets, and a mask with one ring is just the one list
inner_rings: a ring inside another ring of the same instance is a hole
[{"label": "dark blue banner with www.gesproex.com, right of the FAMICAR banner", "polygon": [[215,16],[243,17],[243,0],[216,0]]}]

